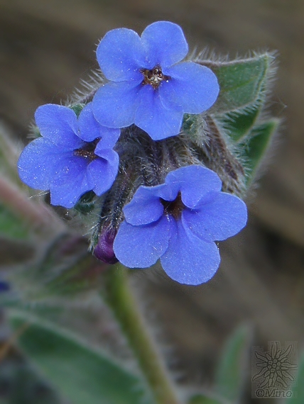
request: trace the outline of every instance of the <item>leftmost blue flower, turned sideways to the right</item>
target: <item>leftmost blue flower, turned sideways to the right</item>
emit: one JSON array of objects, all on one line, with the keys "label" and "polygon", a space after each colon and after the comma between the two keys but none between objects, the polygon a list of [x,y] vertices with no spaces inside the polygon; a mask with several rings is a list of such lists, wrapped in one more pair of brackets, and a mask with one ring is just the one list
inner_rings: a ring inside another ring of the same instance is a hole
[{"label": "leftmost blue flower, turned sideways to the right", "polygon": [[72,208],[80,196],[97,195],[113,184],[119,156],[113,147],[120,130],[99,125],[88,103],[79,118],[65,106],[46,104],[35,114],[42,135],[21,153],[18,172],[34,189],[50,190],[50,203]]}]

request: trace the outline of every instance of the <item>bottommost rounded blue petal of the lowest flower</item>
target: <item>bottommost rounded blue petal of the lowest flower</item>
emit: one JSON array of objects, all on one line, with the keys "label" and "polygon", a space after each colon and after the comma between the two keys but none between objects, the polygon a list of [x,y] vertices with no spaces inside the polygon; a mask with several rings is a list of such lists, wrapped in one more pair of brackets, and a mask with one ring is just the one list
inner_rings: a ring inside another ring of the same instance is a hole
[{"label": "bottommost rounded blue petal of the lowest flower", "polygon": [[169,246],[161,257],[164,271],[180,284],[199,285],[209,281],[219,267],[220,257],[214,242],[200,240],[175,222]]}]

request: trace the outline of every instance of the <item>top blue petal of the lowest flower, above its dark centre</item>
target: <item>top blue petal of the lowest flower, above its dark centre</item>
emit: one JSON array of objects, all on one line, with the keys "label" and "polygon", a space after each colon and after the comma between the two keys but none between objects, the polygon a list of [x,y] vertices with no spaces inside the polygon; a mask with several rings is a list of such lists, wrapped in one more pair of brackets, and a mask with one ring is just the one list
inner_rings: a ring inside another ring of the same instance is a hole
[{"label": "top blue petal of the lowest flower, above its dark centre", "polygon": [[174,189],[178,185],[182,201],[188,208],[195,208],[197,203],[210,191],[222,189],[222,181],[215,172],[197,165],[180,167],[169,172],[165,184]]}]

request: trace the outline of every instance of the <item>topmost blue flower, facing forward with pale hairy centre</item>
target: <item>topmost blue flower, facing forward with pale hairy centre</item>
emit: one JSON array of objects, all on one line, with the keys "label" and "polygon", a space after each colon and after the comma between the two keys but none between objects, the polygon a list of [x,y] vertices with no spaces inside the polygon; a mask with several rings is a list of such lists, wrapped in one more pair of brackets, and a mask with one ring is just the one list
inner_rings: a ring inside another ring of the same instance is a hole
[{"label": "topmost blue flower, facing forward with pale hairy centre", "polygon": [[184,113],[202,113],[217,99],[215,74],[194,62],[180,62],[188,44],[180,26],[158,21],[141,37],[126,28],[109,31],[97,47],[97,60],[109,83],[93,99],[102,125],[133,123],[153,140],[178,135]]}]

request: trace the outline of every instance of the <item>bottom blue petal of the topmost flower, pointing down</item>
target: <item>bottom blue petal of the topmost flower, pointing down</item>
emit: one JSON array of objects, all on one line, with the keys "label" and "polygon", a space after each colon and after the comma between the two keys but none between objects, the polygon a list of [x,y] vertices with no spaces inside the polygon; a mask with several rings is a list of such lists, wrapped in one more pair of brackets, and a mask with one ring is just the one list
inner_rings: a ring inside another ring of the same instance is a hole
[{"label": "bottom blue petal of the topmost flower, pointing down", "polygon": [[150,135],[153,140],[161,140],[180,133],[183,111],[176,106],[168,109],[161,101],[159,92],[152,86],[141,88],[140,104],[134,123]]}]

